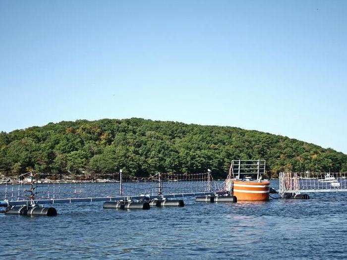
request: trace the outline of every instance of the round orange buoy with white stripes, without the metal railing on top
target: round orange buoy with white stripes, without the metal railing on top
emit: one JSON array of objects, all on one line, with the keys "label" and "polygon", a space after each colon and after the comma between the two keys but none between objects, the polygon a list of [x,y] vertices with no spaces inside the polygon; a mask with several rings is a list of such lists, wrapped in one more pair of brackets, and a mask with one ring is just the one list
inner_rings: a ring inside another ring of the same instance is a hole
[{"label": "round orange buoy with white stripes, without the metal railing on top", "polygon": [[233,196],[237,201],[269,200],[269,181],[233,181]]}]

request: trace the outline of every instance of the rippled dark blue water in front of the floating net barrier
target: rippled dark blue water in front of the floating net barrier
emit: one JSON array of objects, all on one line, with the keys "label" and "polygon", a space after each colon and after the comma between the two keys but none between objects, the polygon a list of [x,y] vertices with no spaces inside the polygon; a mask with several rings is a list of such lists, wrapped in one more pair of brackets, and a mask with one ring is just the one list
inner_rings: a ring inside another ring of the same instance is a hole
[{"label": "rippled dark blue water in front of the floating net barrier", "polygon": [[149,210],[57,204],[55,217],[0,214],[0,259],[347,259],[347,193],[310,197],[185,198],[183,208]]}]

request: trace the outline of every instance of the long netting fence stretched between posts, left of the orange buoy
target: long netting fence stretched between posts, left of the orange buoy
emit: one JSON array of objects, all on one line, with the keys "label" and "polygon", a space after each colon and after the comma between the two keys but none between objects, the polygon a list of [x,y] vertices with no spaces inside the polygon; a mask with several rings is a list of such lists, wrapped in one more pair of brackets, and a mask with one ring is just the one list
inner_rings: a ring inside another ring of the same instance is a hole
[{"label": "long netting fence stretched between posts, left of the orange buoy", "polygon": [[6,177],[0,184],[0,200],[100,198],[213,192],[220,189],[210,172],[157,173],[135,177],[124,173],[36,174]]}]

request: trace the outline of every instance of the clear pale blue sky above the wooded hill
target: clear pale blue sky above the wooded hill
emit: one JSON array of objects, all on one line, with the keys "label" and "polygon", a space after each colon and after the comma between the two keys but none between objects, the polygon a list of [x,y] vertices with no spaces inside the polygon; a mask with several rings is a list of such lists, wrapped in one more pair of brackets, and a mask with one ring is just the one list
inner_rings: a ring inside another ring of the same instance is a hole
[{"label": "clear pale blue sky above the wooded hill", "polygon": [[0,1],[0,130],[129,117],[347,153],[347,1]]}]

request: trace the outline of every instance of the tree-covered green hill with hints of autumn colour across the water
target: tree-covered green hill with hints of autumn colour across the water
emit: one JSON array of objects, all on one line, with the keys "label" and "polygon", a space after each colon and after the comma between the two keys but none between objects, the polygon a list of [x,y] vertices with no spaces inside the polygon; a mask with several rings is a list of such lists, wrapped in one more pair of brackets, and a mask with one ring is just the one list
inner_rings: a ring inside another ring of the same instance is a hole
[{"label": "tree-covered green hill with hints of autumn colour across the water", "polygon": [[235,127],[140,118],[49,123],[0,133],[0,173],[205,172],[226,176],[231,159],[267,160],[267,172],[347,171],[347,155]]}]

